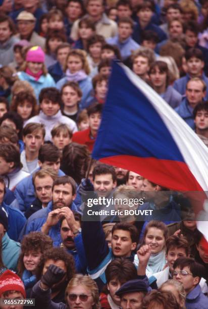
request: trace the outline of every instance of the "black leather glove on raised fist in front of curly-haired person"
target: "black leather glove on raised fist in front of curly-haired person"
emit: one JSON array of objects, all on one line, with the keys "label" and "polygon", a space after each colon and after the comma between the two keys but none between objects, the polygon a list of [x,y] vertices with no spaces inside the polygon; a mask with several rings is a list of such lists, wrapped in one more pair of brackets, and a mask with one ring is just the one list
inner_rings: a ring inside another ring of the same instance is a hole
[{"label": "black leather glove on raised fist in front of curly-haired person", "polygon": [[60,282],[66,273],[56,265],[49,265],[47,271],[40,279],[41,283],[51,288],[54,284]]}]

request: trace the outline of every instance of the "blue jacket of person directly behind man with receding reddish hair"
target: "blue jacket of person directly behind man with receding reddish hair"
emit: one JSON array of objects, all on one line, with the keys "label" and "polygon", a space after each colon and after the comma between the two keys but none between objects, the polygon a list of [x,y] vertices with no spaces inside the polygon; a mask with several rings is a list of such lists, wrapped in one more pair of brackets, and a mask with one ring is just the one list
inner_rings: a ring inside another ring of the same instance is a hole
[{"label": "blue jacket of person directly behind man with receding reddish hair", "polygon": [[[40,168],[35,170],[35,172],[37,172],[38,170],[40,170]],[[30,207],[30,204],[36,198],[35,189],[32,184],[32,175],[33,174],[20,181],[14,191],[15,197],[17,198],[19,203],[19,210],[21,210],[21,212],[23,213]],[[65,175],[64,172],[59,170],[58,176],[64,176],[64,175]]]}]

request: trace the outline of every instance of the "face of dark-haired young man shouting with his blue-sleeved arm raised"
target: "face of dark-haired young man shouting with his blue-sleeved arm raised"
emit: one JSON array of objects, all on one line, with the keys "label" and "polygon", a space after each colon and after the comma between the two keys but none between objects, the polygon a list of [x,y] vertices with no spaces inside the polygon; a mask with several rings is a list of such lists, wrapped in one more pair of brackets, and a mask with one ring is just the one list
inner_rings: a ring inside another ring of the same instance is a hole
[{"label": "face of dark-haired young man shouting with his blue-sleeved arm raised", "polygon": [[112,235],[112,251],[119,258],[124,258],[131,255],[131,251],[136,248],[136,242],[132,242],[129,231],[115,230]]}]

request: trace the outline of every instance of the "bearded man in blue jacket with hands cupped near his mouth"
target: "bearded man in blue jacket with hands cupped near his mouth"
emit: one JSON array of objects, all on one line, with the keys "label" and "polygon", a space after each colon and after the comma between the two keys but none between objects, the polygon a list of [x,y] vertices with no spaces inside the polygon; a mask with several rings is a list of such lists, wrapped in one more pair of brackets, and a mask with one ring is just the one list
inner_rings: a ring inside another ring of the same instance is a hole
[{"label": "bearded man in blue jacket with hands cupped near his mouth", "polygon": [[48,234],[54,241],[54,245],[61,244],[60,219],[66,216],[67,210],[77,212],[73,203],[76,197],[76,183],[70,176],[58,177],[52,187],[52,201],[46,208],[41,209],[30,216],[24,227],[24,235],[32,231],[41,231]]}]

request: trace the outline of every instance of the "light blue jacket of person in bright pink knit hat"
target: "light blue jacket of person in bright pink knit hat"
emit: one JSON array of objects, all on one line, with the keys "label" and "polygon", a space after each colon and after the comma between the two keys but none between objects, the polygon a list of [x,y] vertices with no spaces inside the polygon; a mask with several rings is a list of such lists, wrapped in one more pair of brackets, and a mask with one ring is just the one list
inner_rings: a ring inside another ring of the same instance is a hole
[{"label": "light blue jacket of person in bright pink knit hat", "polygon": [[41,75],[38,80],[35,80],[35,78],[33,76],[27,74],[24,71],[18,72],[17,76],[19,77],[20,80],[26,80],[30,83],[30,85],[34,89],[37,101],[38,101],[40,91],[43,88],[56,87],[56,83],[55,83],[54,79],[50,76],[50,74]]}]

